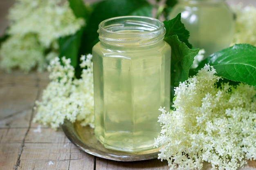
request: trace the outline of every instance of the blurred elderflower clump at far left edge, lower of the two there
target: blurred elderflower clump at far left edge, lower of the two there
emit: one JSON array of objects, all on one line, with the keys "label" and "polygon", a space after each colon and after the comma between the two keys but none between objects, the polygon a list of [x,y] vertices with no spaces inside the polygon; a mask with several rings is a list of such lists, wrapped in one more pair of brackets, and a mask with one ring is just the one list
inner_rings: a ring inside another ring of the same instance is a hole
[{"label": "blurred elderflower clump at far left edge, lower of the two there", "polygon": [[13,35],[2,43],[0,66],[7,72],[11,72],[11,68],[19,68],[27,73],[36,66],[38,71],[42,71],[46,64],[44,50],[34,34]]}]

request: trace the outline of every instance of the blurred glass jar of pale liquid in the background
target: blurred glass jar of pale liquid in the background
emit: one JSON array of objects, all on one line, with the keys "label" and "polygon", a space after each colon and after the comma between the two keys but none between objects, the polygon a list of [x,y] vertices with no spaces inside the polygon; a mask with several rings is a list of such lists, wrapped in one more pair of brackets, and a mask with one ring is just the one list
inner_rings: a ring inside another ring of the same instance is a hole
[{"label": "blurred glass jar of pale liquid in the background", "polygon": [[205,57],[230,46],[234,34],[234,15],[225,0],[178,0],[168,19],[181,13],[190,32],[189,42],[205,50]]}]

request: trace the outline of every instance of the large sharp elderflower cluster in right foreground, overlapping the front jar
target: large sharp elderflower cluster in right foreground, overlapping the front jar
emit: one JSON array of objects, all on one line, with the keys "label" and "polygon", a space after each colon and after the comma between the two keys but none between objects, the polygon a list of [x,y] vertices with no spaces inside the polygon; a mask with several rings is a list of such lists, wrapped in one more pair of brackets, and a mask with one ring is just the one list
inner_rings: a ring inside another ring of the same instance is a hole
[{"label": "large sharp elderflower cluster in right foreground, overlapping the front jar", "polygon": [[207,161],[212,170],[236,170],[256,159],[256,89],[220,83],[215,73],[205,65],[175,88],[174,110],[159,109],[155,147],[170,169],[200,170]]}]

